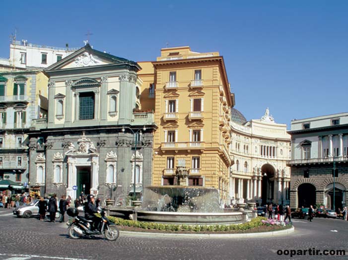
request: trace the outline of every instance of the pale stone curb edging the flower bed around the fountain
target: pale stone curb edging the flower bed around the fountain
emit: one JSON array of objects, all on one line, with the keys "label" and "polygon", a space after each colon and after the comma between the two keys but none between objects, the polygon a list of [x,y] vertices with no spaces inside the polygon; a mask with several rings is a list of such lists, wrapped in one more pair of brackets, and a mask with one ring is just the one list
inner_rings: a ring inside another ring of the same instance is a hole
[{"label": "pale stone curb edging the flower bed around the fountain", "polygon": [[242,233],[242,234],[170,234],[170,233],[149,233],[149,232],[134,232],[134,231],[120,231],[120,235],[129,237],[176,237],[176,238],[264,238],[274,237],[293,233],[295,228],[292,226],[289,229],[259,232],[259,233]]}]

